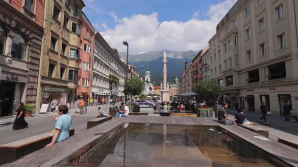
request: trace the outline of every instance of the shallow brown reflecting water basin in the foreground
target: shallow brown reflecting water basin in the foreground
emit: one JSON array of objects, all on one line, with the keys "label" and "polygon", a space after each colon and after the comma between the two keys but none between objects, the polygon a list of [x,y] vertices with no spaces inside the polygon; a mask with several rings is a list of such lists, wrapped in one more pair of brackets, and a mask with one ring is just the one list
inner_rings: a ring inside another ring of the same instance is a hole
[{"label": "shallow brown reflecting water basin in the foreground", "polygon": [[129,124],[58,163],[80,167],[286,166],[216,127]]}]

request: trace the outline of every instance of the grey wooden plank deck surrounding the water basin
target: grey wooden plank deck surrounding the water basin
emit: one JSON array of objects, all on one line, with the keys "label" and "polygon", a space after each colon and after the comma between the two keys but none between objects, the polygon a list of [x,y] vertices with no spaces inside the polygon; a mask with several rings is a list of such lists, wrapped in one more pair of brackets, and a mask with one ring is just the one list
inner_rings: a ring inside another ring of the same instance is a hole
[{"label": "grey wooden plank deck surrounding the water basin", "polygon": [[[78,149],[95,141],[104,133],[107,133],[115,127],[123,123],[150,123],[150,124],[167,124],[167,125],[205,125],[205,126],[220,126],[239,138],[246,140],[248,143],[259,147],[277,157],[291,166],[298,167],[298,149],[278,143],[276,141],[261,141],[253,136],[259,136],[237,125],[222,125],[213,118],[199,117],[159,117],[159,116],[129,116],[121,118],[113,118],[110,121],[87,129],[81,133],[75,134],[68,140],[59,142],[53,146],[42,148],[25,157],[10,163],[3,167],[51,167],[67,156],[75,153]],[[270,132],[269,132],[270,133]]]}]

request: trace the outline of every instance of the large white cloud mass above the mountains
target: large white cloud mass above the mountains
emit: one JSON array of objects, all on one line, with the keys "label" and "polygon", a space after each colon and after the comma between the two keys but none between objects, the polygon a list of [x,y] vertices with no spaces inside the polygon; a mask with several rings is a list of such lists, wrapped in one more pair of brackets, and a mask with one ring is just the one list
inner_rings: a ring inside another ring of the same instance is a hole
[{"label": "large white cloud mass above the mountains", "polygon": [[[216,33],[216,25],[232,7],[236,0],[225,0],[209,7],[205,15],[208,20],[192,18],[189,21],[158,21],[158,14],[133,15],[119,19],[110,13],[117,25],[108,29],[105,25],[100,34],[119,51],[126,51],[123,41],[129,43],[129,53],[138,54],[150,50],[200,50],[208,45]],[[195,16],[196,12],[194,13]],[[199,16],[200,12],[196,16]]]}]

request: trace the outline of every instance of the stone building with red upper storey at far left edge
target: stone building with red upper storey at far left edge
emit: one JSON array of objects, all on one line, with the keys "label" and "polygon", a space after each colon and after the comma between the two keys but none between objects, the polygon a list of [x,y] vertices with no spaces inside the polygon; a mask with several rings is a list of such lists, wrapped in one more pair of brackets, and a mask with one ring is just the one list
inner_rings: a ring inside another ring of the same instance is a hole
[{"label": "stone building with red upper storey at far left edge", "polygon": [[36,105],[44,3],[0,0],[0,117]]}]

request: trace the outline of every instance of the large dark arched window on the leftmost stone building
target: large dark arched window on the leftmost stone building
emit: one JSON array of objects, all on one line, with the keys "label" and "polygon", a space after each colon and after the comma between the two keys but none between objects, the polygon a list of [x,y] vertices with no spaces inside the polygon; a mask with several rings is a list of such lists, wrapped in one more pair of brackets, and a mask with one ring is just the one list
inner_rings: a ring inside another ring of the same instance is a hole
[{"label": "large dark arched window on the leftmost stone building", "polygon": [[13,58],[25,60],[25,53],[26,42],[21,35],[15,33],[11,45],[11,55]]}]

